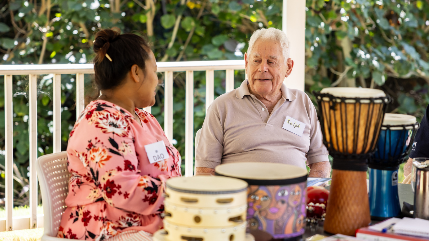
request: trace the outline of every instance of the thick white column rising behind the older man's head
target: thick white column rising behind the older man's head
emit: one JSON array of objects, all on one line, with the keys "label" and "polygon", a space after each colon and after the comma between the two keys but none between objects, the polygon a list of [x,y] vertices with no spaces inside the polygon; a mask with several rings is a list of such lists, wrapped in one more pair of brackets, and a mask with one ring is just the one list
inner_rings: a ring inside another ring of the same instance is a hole
[{"label": "thick white column rising behind the older man's head", "polygon": [[290,41],[293,69],[284,79],[288,88],[304,91],[305,77],[305,1],[283,0],[283,31]]}]

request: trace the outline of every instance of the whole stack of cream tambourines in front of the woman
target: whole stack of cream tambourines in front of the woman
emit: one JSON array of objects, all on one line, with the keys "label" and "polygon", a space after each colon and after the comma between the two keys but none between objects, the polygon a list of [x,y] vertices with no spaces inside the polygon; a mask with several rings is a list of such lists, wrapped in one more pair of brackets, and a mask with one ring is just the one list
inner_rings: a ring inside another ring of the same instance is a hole
[{"label": "whole stack of cream tambourines in front of the woman", "polygon": [[247,187],[227,177],[169,179],[164,229],[154,241],[254,241],[246,235]]}]

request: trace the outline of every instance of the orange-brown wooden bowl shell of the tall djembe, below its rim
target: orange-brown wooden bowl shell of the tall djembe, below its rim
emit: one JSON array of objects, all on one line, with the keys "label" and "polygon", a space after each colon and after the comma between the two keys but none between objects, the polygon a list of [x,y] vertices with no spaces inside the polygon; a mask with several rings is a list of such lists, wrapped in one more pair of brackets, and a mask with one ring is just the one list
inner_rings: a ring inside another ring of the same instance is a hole
[{"label": "orange-brown wooden bowl shell of the tall djembe, below its rim", "polygon": [[323,97],[320,103],[328,150],[343,154],[372,152],[377,142],[371,143],[371,140],[377,140],[375,136],[379,135],[384,103],[381,100],[366,103],[365,100],[335,102],[327,99]]}]

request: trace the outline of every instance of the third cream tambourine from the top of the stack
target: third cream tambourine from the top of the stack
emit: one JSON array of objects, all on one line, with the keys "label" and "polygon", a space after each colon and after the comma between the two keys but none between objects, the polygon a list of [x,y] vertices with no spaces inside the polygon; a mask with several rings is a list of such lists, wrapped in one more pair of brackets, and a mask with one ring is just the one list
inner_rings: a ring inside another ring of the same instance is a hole
[{"label": "third cream tambourine from the top of the stack", "polygon": [[[188,227],[164,220],[164,229],[168,232],[165,236],[168,241],[185,240],[185,237],[203,238],[203,241],[244,241],[246,238],[246,224],[224,228]],[[230,239],[231,235],[233,238]]]}]

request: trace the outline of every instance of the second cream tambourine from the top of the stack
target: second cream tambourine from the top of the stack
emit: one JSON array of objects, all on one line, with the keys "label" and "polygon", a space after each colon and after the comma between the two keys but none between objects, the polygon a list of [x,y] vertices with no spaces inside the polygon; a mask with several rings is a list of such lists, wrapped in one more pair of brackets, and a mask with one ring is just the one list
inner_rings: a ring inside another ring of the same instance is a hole
[{"label": "second cream tambourine from the top of the stack", "polygon": [[165,201],[164,207],[165,220],[188,227],[222,228],[242,225],[246,221],[246,204],[230,208],[188,208]]}]

